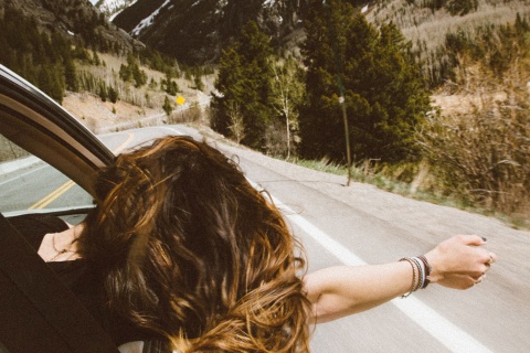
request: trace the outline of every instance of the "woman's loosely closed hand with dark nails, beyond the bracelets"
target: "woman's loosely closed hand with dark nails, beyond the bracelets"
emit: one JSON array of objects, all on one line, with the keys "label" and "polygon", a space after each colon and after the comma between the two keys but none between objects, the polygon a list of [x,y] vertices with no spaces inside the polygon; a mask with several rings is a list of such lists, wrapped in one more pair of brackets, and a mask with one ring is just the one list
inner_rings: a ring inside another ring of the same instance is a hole
[{"label": "woman's loosely closed hand with dark nails, beyond the bracelets", "polygon": [[425,254],[431,265],[431,282],[467,289],[486,278],[486,271],[497,255],[483,246],[486,239],[478,235],[456,235]]}]

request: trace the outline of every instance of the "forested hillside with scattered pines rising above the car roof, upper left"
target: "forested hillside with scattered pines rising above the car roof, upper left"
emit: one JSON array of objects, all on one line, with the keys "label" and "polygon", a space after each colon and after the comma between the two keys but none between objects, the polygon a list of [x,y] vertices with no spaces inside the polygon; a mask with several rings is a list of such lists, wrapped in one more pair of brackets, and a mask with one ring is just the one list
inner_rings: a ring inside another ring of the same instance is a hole
[{"label": "forested hillside with scattered pines rising above the car roof, upper left", "polygon": [[[56,101],[62,103],[66,92],[87,92],[103,101],[130,103],[141,111],[145,106],[161,109],[165,96],[173,100],[188,90],[177,84],[180,78],[194,89],[204,88],[201,77],[205,69],[212,73],[211,68],[182,66],[146,47],[88,2],[59,2],[44,0],[39,3],[43,8],[19,1],[0,3],[0,64]],[[100,58],[104,54],[112,65]],[[166,105],[169,113],[172,107]]]}]

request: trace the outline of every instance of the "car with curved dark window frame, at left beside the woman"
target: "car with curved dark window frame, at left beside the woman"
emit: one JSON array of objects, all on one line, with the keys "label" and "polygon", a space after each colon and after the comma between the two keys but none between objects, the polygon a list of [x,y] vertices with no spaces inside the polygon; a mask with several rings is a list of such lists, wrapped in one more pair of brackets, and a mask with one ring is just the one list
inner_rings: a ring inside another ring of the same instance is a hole
[{"label": "car with curved dark window frame, at left beside the woman", "polygon": [[[95,172],[114,158],[59,104],[0,65],[0,353],[119,352],[9,221],[46,213],[81,222],[94,207]],[[65,190],[72,196],[59,197]]]}]

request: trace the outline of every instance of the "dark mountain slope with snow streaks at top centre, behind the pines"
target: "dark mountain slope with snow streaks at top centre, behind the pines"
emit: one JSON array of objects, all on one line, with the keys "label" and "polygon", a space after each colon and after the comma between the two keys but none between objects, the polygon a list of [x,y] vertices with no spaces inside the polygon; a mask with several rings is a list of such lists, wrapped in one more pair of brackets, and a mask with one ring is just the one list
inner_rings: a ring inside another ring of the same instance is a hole
[{"label": "dark mountain slope with snow streaks at top centre, behind the pines", "polygon": [[214,62],[250,20],[275,45],[301,30],[310,0],[138,0],[114,23],[160,52],[189,64]]}]

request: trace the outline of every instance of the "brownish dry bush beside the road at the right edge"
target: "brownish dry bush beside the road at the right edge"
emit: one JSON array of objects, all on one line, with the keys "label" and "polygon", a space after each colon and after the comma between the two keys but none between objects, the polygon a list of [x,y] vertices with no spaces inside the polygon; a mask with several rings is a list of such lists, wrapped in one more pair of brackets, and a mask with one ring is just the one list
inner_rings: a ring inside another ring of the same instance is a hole
[{"label": "brownish dry bush beside the road at the right edge", "polygon": [[465,115],[433,117],[420,140],[445,185],[476,206],[506,214],[530,206],[528,97],[495,101]]}]

